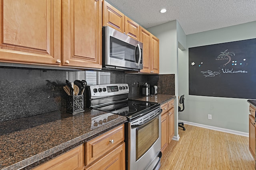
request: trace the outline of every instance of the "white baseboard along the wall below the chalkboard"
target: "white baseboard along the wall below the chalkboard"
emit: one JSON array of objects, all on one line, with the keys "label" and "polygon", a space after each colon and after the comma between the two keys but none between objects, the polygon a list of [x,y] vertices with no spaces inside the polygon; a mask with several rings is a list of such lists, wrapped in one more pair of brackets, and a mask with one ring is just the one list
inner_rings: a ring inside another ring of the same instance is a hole
[{"label": "white baseboard along the wall below the chalkboard", "polygon": [[202,124],[199,124],[199,123],[193,123],[193,122],[183,121],[183,120],[179,120],[178,122],[183,122],[184,124],[187,124],[187,125],[203,127],[203,128],[206,128],[206,129],[212,129],[212,130],[215,130],[215,131],[221,131],[221,132],[232,133],[232,134],[235,134],[235,135],[241,135],[241,136],[249,137],[249,133],[245,133],[245,132],[234,131],[234,130],[230,130],[230,129],[224,129],[224,128],[214,127],[214,126],[209,126],[209,125],[202,125]]}]

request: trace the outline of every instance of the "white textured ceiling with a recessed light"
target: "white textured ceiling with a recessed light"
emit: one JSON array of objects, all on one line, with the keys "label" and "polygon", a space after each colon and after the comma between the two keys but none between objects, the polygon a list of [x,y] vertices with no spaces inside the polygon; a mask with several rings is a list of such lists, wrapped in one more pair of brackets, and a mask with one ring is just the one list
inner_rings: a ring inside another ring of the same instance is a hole
[{"label": "white textured ceiling with a recessed light", "polygon": [[[178,20],[185,34],[256,21],[256,0],[107,0],[149,28]],[[166,8],[167,12],[159,11]],[[256,28],[255,28],[256,29]]]}]

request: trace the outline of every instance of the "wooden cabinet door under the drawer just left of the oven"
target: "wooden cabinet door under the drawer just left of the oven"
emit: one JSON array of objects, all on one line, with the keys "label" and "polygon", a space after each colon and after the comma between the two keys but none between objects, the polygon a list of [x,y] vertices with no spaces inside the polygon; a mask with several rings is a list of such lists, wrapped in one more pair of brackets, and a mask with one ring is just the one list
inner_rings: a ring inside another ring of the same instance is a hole
[{"label": "wooden cabinet door under the drawer just left of the oven", "polygon": [[120,144],[94,164],[86,166],[85,170],[125,170],[125,143]]}]

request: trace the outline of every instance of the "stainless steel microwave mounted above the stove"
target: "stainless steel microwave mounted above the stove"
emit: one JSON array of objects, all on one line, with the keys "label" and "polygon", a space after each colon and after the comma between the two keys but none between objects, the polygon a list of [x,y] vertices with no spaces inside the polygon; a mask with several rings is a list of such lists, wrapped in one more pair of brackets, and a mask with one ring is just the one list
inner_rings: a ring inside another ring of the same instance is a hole
[{"label": "stainless steel microwave mounted above the stove", "polygon": [[102,68],[140,70],[142,49],[141,42],[109,26],[102,27]]}]

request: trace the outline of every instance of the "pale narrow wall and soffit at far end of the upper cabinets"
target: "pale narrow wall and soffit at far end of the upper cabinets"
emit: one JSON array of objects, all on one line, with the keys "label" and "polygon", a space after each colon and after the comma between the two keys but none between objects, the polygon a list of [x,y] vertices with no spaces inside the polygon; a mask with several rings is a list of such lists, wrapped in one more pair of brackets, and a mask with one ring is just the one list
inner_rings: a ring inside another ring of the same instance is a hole
[{"label": "pale narrow wall and soffit at far end of the upper cabinets", "polygon": [[[170,21],[148,29],[158,37],[159,42],[159,72],[160,74],[175,74],[175,95],[178,97],[178,46],[186,49],[186,35],[178,21]],[[174,139],[178,140],[178,103],[175,104]]]}]

